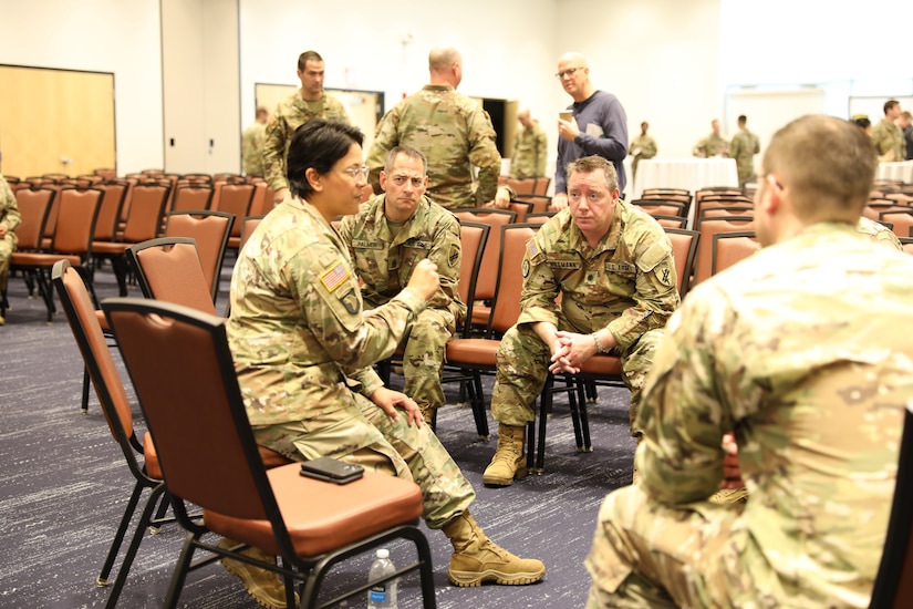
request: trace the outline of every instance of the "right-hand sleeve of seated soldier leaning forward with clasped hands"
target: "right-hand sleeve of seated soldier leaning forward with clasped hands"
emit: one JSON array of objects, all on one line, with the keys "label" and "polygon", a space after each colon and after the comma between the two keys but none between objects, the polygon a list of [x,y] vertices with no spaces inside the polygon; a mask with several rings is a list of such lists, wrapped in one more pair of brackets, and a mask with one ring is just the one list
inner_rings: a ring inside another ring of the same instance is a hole
[{"label": "right-hand sleeve of seated soldier leaning forward with clasped hands", "polygon": [[635,304],[608,326],[622,348],[665,326],[679,303],[672,244],[665,233],[645,233],[635,245],[633,261],[637,268]]}]

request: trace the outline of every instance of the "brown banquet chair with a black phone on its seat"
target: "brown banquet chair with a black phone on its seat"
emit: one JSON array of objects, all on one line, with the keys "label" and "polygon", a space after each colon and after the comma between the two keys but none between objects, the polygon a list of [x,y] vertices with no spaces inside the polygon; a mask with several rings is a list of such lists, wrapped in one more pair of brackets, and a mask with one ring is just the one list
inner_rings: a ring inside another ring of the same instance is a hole
[{"label": "brown banquet chair with a black phone on its seat", "polygon": [[[317,607],[321,582],[334,565],[394,539],[414,544],[417,559],[387,580],[418,571],[424,607],[435,607],[430,549],[416,526],[422,492],[414,482],[365,472],[338,485],[301,476],[298,463],[264,469],[225,320],[134,298],[108,299],[102,307],[155,441],[175,515],[187,530],[165,607],[177,606],[189,571],[229,557],[279,574],[289,607],[293,581],[300,582],[301,607]],[[208,442],[199,441],[201,432]],[[187,514],[185,502],[203,508],[201,522]],[[240,545],[219,547],[204,540],[207,533]],[[281,562],[240,554],[250,546]],[[197,549],[208,556],[194,562]],[[357,584],[321,607],[338,606],[371,586]]]}]

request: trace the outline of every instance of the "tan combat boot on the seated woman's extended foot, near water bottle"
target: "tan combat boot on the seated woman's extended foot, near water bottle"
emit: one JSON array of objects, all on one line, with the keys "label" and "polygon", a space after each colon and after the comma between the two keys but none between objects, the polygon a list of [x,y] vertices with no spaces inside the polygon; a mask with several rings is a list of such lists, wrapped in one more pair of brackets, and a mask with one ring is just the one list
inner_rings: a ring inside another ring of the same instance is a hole
[{"label": "tan combat boot on the seated woman's extended foot, near water bottle", "polygon": [[495,581],[502,586],[535,584],[546,575],[546,566],[535,558],[518,558],[485,536],[476,520],[464,512],[444,525],[454,545],[447,577],[463,588]]}]

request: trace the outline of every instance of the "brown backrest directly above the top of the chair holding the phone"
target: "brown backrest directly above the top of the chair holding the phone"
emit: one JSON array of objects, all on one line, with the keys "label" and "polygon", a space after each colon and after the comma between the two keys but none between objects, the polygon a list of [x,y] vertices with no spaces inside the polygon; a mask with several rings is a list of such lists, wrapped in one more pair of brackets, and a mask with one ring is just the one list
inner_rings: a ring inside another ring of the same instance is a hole
[{"label": "brown backrest directly above the top of the chair holding the phone", "polygon": [[146,298],[176,302],[216,314],[216,306],[194,239],[149,239],[128,247],[126,256]]}]

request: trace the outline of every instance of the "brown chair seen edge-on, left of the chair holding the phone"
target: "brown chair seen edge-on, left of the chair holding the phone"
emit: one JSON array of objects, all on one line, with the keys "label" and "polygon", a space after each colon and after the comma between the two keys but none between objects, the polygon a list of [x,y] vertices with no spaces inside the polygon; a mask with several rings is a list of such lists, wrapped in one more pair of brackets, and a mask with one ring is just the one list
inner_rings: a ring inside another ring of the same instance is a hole
[{"label": "brown chair seen edge-on, left of the chair holding the phone", "polygon": [[[98,586],[107,586],[114,560],[117,558],[117,553],[126,536],[131,519],[136,514],[143,492],[151,491],[136,524],[136,530],[127,546],[124,560],[121,564],[117,580],[108,597],[108,606],[113,607],[124,587],[127,572],[143,540],[146,527],[158,527],[166,522],[160,518],[164,509],[159,512],[158,517],[153,517],[156,504],[165,494],[165,485],[162,481],[162,469],[158,466],[158,460],[148,433],[142,440],[136,436],[124,383],[95,317],[95,306],[86,290],[83,276],[76,267],[70,266],[68,260],[60,260],[53,267],[51,281],[56,289],[66,320],[70,322],[70,329],[73,331],[73,338],[82,354],[85,369],[89,371],[92,384],[95,386],[95,394],[102,405],[111,434],[121,446],[127,468],[135,479],[133,492],[124,508],[124,515],[96,579]],[[163,505],[163,507],[166,507],[166,505]]]}]

